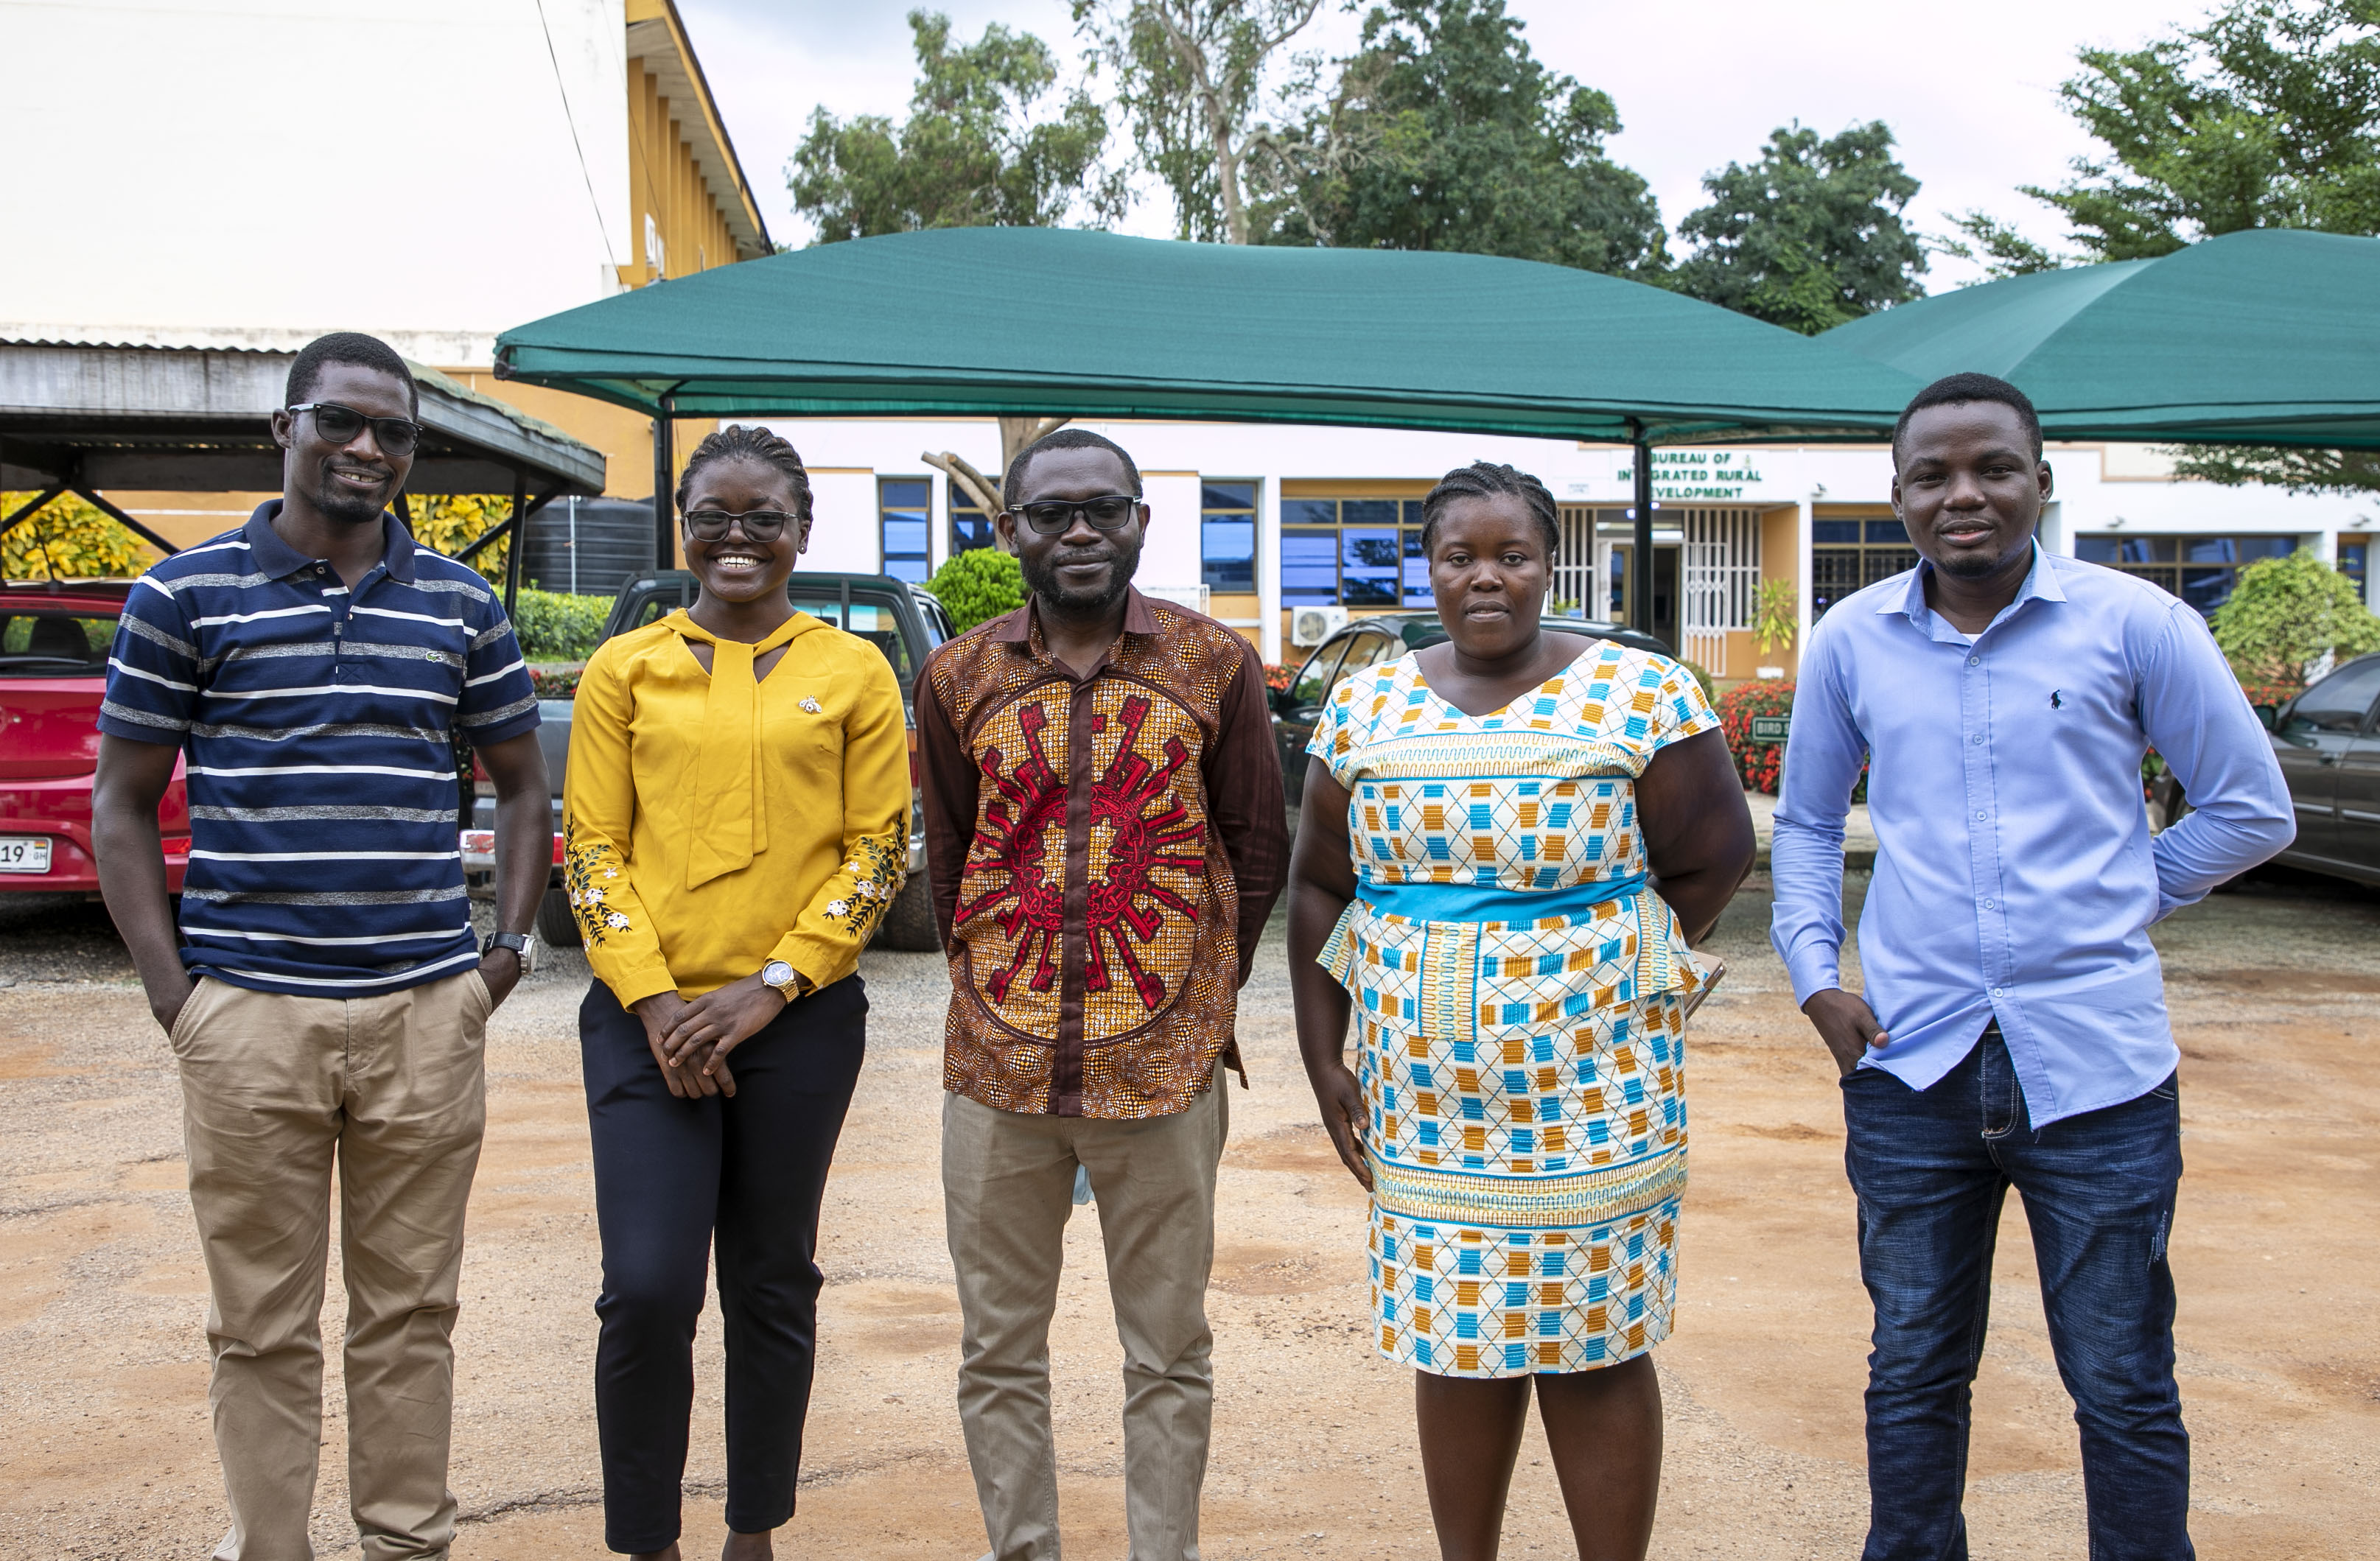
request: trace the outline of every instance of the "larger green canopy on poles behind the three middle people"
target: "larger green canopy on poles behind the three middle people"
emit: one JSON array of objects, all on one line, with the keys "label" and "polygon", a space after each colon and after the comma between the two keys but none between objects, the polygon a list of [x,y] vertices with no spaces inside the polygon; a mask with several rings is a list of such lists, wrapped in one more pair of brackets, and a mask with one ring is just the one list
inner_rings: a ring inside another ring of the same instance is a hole
[{"label": "larger green canopy on poles behind the three middle people", "polygon": [[1714,305],[1490,255],[938,228],[681,276],[497,338],[497,374],[654,416],[1142,416],[1647,445],[1875,440],[1916,385]]}]

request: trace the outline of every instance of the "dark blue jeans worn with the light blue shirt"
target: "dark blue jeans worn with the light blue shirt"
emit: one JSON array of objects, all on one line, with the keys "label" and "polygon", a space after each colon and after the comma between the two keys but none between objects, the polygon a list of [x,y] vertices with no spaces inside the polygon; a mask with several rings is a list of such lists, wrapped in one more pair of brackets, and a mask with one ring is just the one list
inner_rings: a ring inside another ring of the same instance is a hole
[{"label": "dark blue jeans worn with the light blue shirt", "polygon": [[1868,1354],[1864,1561],[1964,1561],[1968,1397],[2013,1185],[2059,1378],[2082,1428],[2092,1561],[2190,1561],[2190,1433],[2173,1385],[2166,1235],[2182,1176],[2173,1078],[2040,1133],[1999,1028],[1930,1090],[1842,1080]]}]

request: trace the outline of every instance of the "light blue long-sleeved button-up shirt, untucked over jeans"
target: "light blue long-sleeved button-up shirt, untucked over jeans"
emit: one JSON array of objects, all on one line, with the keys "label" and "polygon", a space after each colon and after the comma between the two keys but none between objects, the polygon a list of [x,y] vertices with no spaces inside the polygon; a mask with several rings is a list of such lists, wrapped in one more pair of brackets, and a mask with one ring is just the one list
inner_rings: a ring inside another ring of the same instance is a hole
[{"label": "light blue long-sleeved button-up shirt, untucked over jeans", "polygon": [[[1809,638],[1771,938],[1795,1002],[1842,985],[1842,819],[1868,759],[1859,964],[1892,1045],[1861,1066],[1923,1090],[1997,1018],[2042,1128],[2173,1073],[2147,928],[2290,845],[2290,788],[2187,602],[2035,550],[1971,640],[1925,604],[1928,569],[1844,597]],[[2197,809],[2154,840],[2149,747]]]}]

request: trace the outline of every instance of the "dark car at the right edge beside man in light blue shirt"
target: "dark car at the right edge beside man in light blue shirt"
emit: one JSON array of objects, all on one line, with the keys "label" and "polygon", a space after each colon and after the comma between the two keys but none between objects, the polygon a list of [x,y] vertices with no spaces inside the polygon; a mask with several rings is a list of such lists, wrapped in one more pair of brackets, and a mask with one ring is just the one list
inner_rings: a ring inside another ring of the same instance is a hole
[{"label": "dark car at the right edge beside man in light blue shirt", "polygon": [[2259,714],[2297,809],[2297,840],[2275,861],[2380,885],[2380,657]]}]

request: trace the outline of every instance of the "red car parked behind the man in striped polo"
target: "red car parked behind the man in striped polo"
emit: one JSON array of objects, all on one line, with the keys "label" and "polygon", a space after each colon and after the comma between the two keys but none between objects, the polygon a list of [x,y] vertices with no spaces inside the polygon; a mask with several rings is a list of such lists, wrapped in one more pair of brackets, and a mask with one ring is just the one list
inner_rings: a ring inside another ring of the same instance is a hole
[{"label": "red car parked behind the man in striped polo", "polygon": [[[124,581],[0,588],[0,895],[98,895],[90,776],[100,764],[107,647]],[[157,804],[164,888],[190,864],[190,795],[181,759]]]}]

